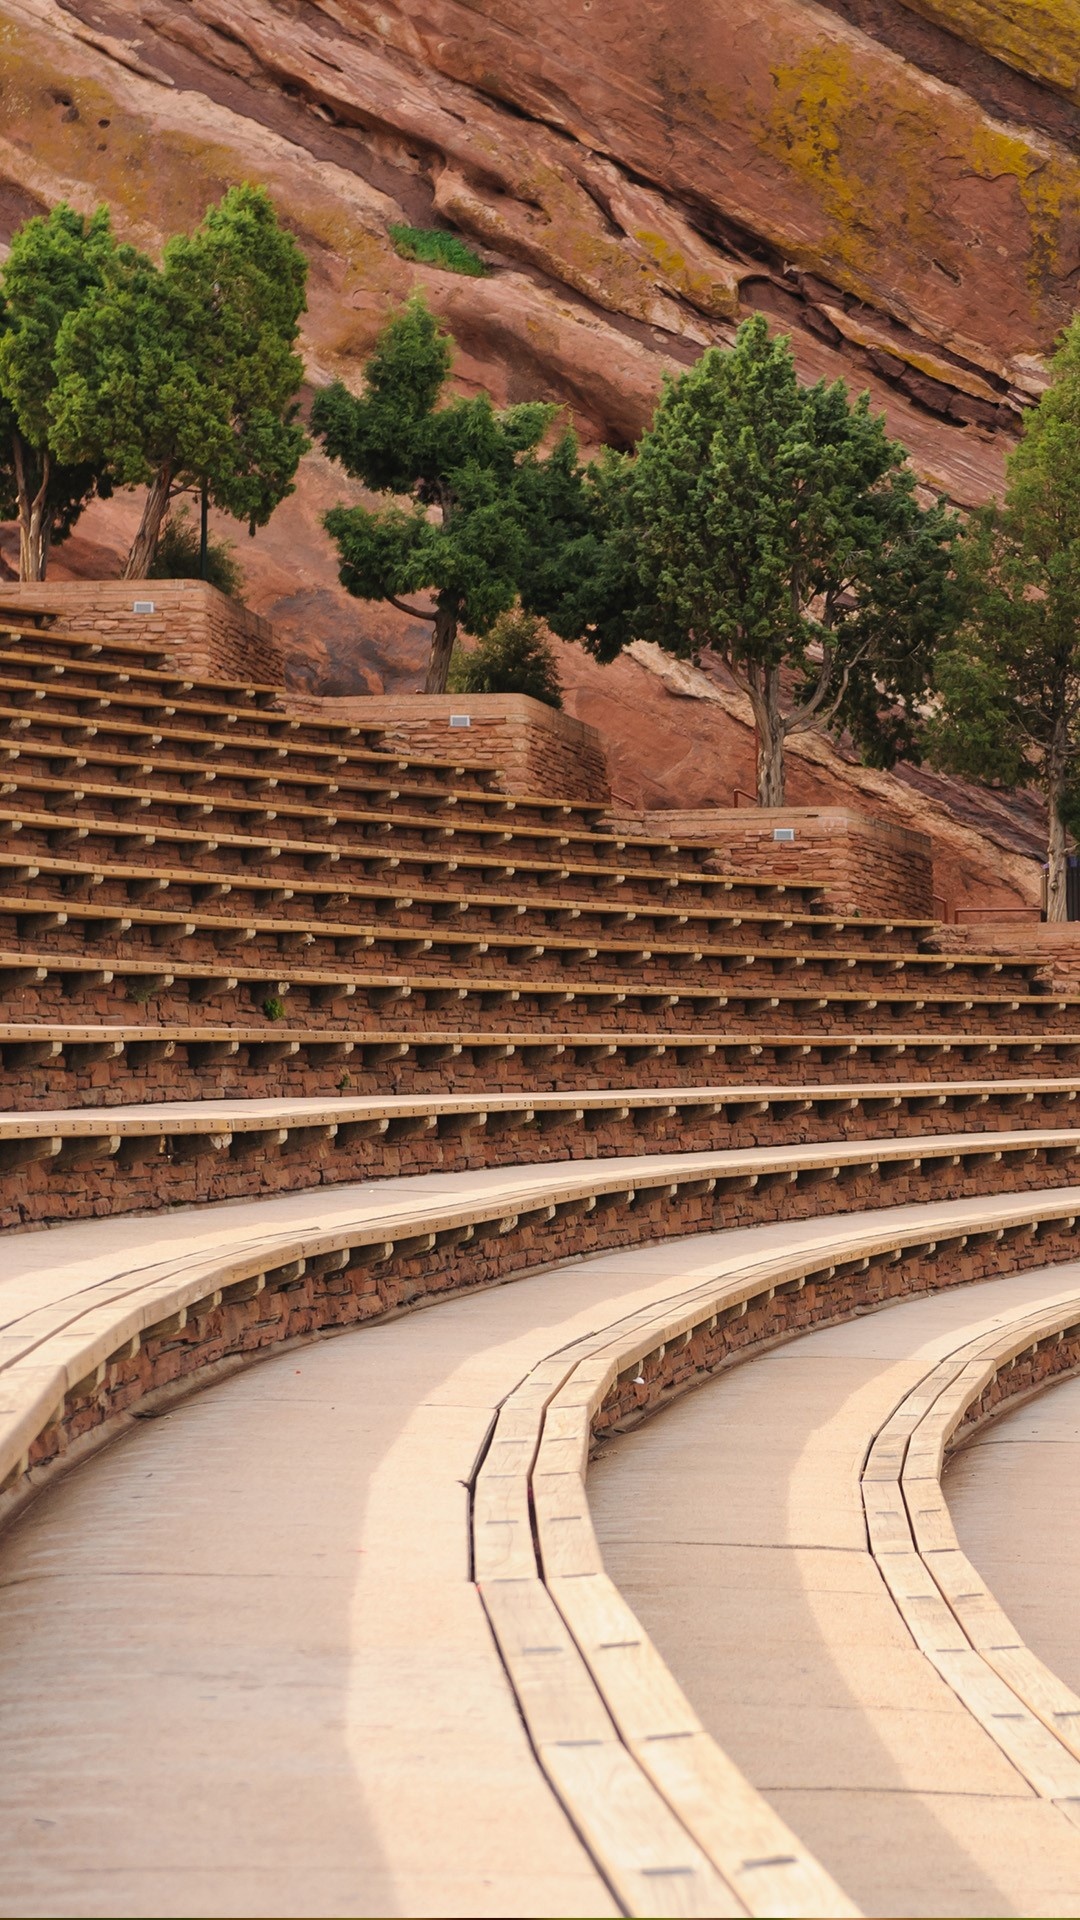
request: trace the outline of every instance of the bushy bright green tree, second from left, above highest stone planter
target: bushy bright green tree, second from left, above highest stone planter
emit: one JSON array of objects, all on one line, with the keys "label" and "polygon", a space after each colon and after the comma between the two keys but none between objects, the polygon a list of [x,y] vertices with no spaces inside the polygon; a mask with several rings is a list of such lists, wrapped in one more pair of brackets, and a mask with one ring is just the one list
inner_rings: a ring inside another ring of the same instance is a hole
[{"label": "bushy bright green tree, second from left, above highest stone planter", "polygon": [[117,253],[98,298],[61,326],[56,447],[148,490],[125,578],[148,574],[177,493],[206,484],[254,532],[292,492],[307,445],[294,351],[306,276],[269,196],[234,186],[194,234],[167,242],[160,269]]}]

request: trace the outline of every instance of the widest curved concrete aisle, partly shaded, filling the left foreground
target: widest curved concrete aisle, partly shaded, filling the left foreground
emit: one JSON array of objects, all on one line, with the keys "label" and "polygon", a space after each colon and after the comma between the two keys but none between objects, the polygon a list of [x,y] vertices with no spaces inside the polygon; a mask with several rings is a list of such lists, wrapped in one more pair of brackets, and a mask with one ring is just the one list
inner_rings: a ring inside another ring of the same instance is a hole
[{"label": "widest curved concrete aisle, partly shaded, filling the left foreground", "polygon": [[548,1329],[623,1296],[582,1271],[282,1352],[13,1524],[0,1912],[615,1912],[532,1761],[463,1486]]}]

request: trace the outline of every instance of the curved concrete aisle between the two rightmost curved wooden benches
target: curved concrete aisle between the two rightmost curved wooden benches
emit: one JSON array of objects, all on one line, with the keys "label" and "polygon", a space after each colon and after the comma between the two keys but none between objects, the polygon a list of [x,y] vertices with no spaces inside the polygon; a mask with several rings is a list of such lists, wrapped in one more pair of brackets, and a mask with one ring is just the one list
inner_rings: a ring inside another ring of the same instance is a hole
[{"label": "curved concrete aisle between the two rightmost curved wooden benches", "polygon": [[859,1492],[872,1432],[936,1359],[1076,1279],[1053,1267],[807,1332],[590,1473],[611,1578],[713,1738],[867,1914],[1080,1914],[1080,1832],[911,1642]]}]

